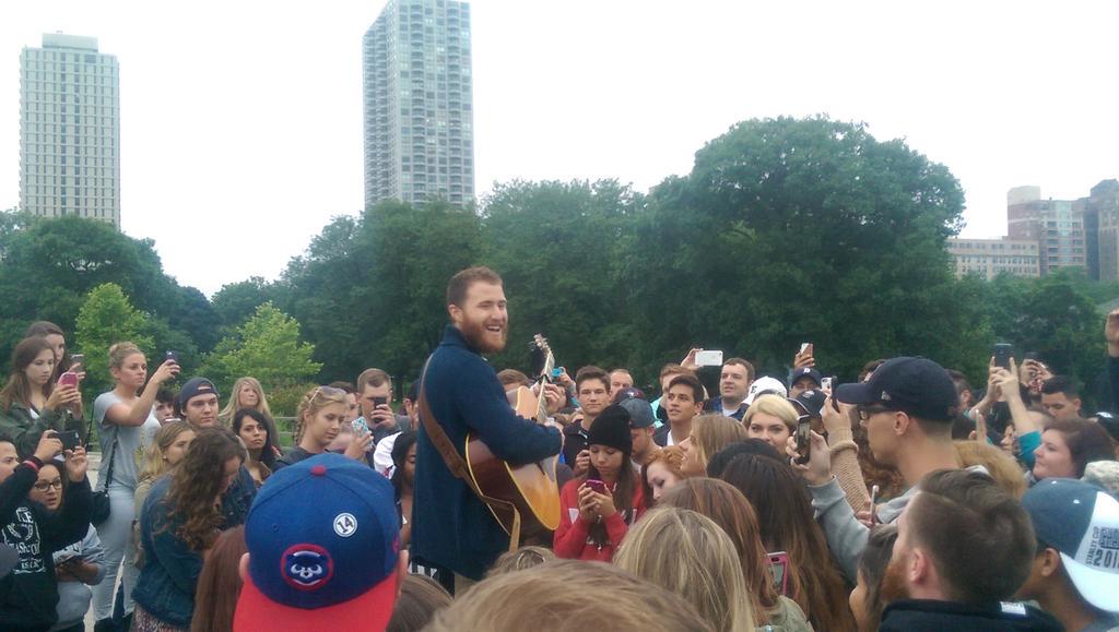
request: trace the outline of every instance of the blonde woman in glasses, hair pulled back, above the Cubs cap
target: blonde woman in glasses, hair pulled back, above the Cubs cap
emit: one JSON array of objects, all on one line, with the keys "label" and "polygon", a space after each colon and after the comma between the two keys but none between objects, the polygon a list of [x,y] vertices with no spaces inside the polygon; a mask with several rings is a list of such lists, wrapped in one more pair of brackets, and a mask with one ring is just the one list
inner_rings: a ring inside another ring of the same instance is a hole
[{"label": "blonde woman in glasses, hair pulled back, above the Cubs cap", "polygon": [[[295,447],[276,460],[276,470],[310,459],[327,451],[330,442],[338,436],[349,414],[346,392],[331,386],[320,386],[308,392],[295,413]],[[358,433],[346,447],[346,456],[364,461],[373,446],[373,434]]]}]

